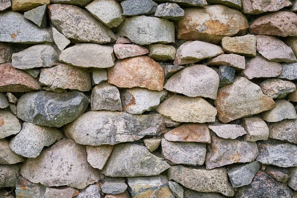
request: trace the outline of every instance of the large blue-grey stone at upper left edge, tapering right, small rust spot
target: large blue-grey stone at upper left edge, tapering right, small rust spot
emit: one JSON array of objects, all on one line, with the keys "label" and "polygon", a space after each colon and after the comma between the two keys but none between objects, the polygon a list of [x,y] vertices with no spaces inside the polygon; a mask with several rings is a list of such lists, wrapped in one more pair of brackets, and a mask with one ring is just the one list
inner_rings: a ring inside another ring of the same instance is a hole
[{"label": "large blue-grey stone at upper left edge, tapering right, small rust spot", "polygon": [[0,42],[41,44],[53,42],[49,29],[41,29],[28,21],[21,13],[0,13]]}]

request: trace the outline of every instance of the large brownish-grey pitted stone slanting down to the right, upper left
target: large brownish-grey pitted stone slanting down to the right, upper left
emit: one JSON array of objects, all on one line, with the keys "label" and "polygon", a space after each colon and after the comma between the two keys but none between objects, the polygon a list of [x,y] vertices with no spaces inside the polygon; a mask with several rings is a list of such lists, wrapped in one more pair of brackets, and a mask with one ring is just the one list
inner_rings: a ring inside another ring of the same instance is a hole
[{"label": "large brownish-grey pitted stone slanting down to the right, upper left", "polygon": [[51,4],[48,8],[52,26],[73,43],[115,41],[114,33],[82,8],[66,4]]}]

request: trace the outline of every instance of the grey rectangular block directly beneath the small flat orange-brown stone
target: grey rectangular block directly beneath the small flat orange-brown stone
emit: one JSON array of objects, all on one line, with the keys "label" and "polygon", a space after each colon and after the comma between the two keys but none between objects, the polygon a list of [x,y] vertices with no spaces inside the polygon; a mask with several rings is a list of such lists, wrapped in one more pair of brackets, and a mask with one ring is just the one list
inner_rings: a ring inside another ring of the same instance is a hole
[{"label": "grey rectangular block directly beneath the small flat orange-brown stone", "polygon": [[171,164],[202,165],[206,147],[202,143],[169,142],[162,139],[162,155]]}]

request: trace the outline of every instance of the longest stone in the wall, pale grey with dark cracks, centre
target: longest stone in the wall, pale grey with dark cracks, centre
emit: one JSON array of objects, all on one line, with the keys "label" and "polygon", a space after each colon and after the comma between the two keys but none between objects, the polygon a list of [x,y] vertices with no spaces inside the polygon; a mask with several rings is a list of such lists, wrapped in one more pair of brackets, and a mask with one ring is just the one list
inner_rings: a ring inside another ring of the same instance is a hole
[{"label": "longest stone in the wall, pale grey with dark cracks, centre", "polygon": [[164,130],[160,114],[88,111],[68,124],[64,133],[78,144],[99,146],[133,142],[145,136],[159,136]]}]

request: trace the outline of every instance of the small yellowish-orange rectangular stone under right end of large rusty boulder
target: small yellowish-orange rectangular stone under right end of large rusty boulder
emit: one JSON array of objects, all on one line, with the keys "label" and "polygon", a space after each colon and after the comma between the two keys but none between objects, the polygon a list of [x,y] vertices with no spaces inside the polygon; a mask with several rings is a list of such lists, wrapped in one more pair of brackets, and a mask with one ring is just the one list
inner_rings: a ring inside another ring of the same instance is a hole
[{"label": "small yellowish-orange rectangular stone under right end of large rusty boulder", "polygon": [[222,47],[227,53],[236,53],[244,56],[256,56],[256,37],[246,35],[241,37],[224,37]]}]

